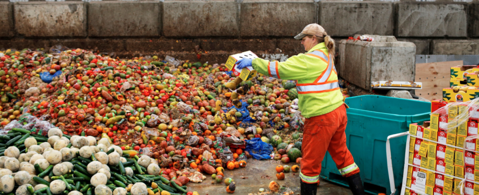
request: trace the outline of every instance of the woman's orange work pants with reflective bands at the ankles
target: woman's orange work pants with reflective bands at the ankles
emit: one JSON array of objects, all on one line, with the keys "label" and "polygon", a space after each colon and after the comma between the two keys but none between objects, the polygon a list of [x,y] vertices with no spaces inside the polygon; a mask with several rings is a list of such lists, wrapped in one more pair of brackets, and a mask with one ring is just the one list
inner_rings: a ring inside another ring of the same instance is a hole
[{"label": "woman's orange work pants with reflective bands at the ankles", "polygon": [[359,167],[346,147],[345,104],[330,113],[306,118],[301,160],[301,180],[305,183],[318,183],[321,162],[329,152],[342,176],[348,177],[359,173]]}]

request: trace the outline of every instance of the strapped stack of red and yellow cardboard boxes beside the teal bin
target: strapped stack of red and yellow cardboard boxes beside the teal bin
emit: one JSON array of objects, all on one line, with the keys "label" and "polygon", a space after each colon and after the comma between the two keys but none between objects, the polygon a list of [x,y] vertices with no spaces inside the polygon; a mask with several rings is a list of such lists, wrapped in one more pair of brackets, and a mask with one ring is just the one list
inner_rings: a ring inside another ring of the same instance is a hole
[{"label": "strapped stack of red and yellow cardboard boxes beside the teal bin", "polygon": [[[445,101],[435,100],[431,112],[445,105]],[[469,115],[473,117],[451,129],[456,126],[453,119],[463,112],[473,112]],[[406,195],[460,195],[458,186],[463,179],[464,194],[479,195],[479,184],[475,183],[479,183],[479,139],[467,140],[467,150],[463,150],[465,138],[478,135],[478,117],[479,110],[465,104],[450,106],[448,114],[432,114],[431,121],[422,126],[410,125],[406,186],[411,190],[406,189]]]}]

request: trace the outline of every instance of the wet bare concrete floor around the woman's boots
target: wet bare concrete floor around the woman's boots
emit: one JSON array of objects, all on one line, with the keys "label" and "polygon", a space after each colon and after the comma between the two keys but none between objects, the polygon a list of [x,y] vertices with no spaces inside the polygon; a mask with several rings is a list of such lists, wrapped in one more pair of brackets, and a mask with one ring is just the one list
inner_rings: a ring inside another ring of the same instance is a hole
[{"label": "wet bare concrete floor around the woman's boots", "polygon": [[[296,163],[289,163],[293,166]],[[285,165],[281,161],[275,160],[252,160],[248,159],[245,168],[235,169],[233,171],[225,170],[224,177],[231,177],[235,180],[237,195],[259,194],[259,189],[264,188],[265,192],[269,191],[268,184],[272,180],[277,181],[282,187],[280,192],[294,192],[294,195],[300,194],[300,178],[299,172],[285,173],[284,180],[276,179],[275,167]],[[229,195],[226,193],[226,185],[222,183],[213,183],[211,176],[206,175],[206,180],[202,183],[188,183],[188,191],[196,191],[200,195]],[[242,177],[247,177],[241,179]],[[261,193],[266,194],[266,193]],[[291,194],[292,195],[292,194]],[[318,195],[352,195],[348,188],[335,185],[321,179],[318,187]]]}]

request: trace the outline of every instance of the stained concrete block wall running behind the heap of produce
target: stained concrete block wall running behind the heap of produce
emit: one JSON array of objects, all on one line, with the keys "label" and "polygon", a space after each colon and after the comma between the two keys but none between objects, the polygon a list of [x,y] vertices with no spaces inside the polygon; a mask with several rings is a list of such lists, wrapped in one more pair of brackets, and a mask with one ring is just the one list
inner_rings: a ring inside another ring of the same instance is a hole
[{"label": "stained concrete block wall running behind the heap of produce", "polygon": [[174,51],[196,60],[199,51],[201,60],[247,50],[284,58],[304,52],[292,37],[309,23],[338,42],[393,35],[413,42],[416,54],[479,55],[479,2],[415,1],[0,2],[0,49],[63,43],[125,55]]}]

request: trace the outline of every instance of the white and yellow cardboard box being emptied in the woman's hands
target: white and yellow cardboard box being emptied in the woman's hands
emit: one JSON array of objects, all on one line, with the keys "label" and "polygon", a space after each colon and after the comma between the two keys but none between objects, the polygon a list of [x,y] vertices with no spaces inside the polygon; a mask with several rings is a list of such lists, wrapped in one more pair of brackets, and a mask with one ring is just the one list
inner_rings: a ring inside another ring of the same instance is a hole
[{"label": "white and yellow cardboard box being emptied in the woman's hands", "polygon": [[234,75],[239,76],[244,81],[248,81],[262,74],[256,72],[256,70],[254,70],[253,67],[251,66],[240,70],[237,68],[235,63],[240,59],[256,59],[256,58],[258,58],[258,56],[256,56],[256,54],[254,54],[251,51],[231,55],[226,61],[225,66],[226,68],[231,70]]}]

